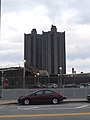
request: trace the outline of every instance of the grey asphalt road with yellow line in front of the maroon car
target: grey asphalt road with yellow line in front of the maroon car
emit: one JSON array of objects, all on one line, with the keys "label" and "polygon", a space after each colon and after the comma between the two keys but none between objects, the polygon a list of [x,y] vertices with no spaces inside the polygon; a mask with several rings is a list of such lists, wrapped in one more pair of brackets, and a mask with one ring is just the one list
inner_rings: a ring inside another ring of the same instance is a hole
[{"label": "grey asphalt road with yellow line in front of the maroon car", "polygon": [[90,120],[90,103],[57,105],[0,105],[0,120]]}]

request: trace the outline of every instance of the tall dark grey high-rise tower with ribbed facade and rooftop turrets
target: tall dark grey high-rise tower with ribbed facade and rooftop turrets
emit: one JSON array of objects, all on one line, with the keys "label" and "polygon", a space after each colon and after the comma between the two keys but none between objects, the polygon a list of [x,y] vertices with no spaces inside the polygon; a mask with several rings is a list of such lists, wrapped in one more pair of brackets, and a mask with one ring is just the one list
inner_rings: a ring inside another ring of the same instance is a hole
[{"label": "tall dark grey high-rise tower with ribbed facade and rooftop turrets", "polygon": [[24,34],[25,67],[47,70],[49,74],[58,74],[59,67],[66,74],[65,32],[57,32],[56,26],[51,31],[37,34],[36,29],[31,34]]}]

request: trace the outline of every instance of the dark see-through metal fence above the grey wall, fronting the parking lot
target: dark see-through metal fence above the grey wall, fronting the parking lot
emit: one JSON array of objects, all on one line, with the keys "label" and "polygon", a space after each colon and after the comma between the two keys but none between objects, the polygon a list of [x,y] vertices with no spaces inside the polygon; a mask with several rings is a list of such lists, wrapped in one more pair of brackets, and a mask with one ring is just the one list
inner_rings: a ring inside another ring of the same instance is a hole
[{"label": "dark see-through metal fence above the grey wall, fronting the parking lot", "polygon": [[[66,84],[80,84],[80,83],[90,83],[90,77],[66,77],[66,76],[33,76],[33,77],[6,77],[8,82],[4,79],[0,80],[0,86],[3,89],[13,89],[13,88],[32,88],[34,85],[48,85],[49,83],[55,83],[57,86],[63,87]],[[24,86],[23,86],[23,80]]]}]

